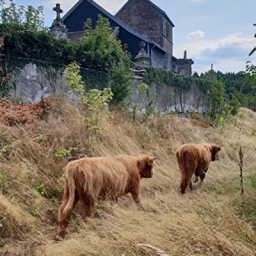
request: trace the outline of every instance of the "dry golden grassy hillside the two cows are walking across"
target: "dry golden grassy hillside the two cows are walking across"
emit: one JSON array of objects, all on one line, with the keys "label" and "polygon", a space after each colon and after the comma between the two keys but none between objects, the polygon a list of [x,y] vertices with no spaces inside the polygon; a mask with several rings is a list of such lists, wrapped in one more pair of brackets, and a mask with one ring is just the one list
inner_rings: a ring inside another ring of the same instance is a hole
[{"label": "dry golden grassy hillside the two cows are walking across", "polygon": [[[60,96],[44,116],[0,123],[0,255],[256,255],[256,116],[241,108],[225,127],[175,114],[137,118],[110,112],[101,133],[88,133],[80,111]],[[3,113],[3,112],[0,112]],[[202,184],[179,193],[175,152],[184,143],[222,146]],[[243,189],[240,185],[242,147]],[[86,223],[78,204],[67,236],[55,242],[63,196],[63,167],[82,156],[149,154],[153,178],[142,179],[137,208],[128,195],[99,201]],[[138,245],[146,244],[146,245]]]}]

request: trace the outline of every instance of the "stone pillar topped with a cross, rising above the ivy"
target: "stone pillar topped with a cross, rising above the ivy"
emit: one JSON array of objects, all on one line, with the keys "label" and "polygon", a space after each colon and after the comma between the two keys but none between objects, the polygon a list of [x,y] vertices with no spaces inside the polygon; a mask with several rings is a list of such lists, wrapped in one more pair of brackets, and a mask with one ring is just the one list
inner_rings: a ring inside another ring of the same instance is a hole
[{"label": "stone pillar topped with a cross, rising above the ivy", "polygon": [[56,11],[56,19],[52,22],[50,31],[54,33],[57,39],[67,39],[67,28],[64,25],[63,20],[61,20],[60,15],[63,10],[61,10],[59,3],[56,3],[56,7],[54,7],[53,10]]}]

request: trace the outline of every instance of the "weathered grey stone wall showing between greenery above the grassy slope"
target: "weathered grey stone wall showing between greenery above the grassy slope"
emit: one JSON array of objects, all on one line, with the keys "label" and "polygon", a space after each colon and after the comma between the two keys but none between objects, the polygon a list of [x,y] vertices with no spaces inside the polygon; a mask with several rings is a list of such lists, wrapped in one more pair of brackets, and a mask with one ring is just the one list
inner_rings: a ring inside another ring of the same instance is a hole
[{"label": "weathered grey stone wall showing between greenery above the grassy slope", "polygon": [[[49,97],[56,91],[61,91],[68,95],[69,88],[64,86],[62,71],[43,71],[38,69],[36,65],[29,64],[16,75],[16,87],[10,89],[10,99],[15,99],[16,103],[37,103],[42,98]],[[9,81],[13,84],[14,78]],[[155,110],[166,114],[170,111],[178,112],[204,112],[204,95],[200,93],[195,82],[191,83],[191,89],[180,95],[178,91],[170,89],[163,85],[157,88],[152,84],[147,93],[138,93],[136,88],[142,82],[142,78],[137,76],[134,78],[133,92],[129,100],[132,103],[139,103],[138,110],[142,113],[146,112],[146,108],[150,101],[155,106]],[[73,97],[69,94],[69,97]]]}]

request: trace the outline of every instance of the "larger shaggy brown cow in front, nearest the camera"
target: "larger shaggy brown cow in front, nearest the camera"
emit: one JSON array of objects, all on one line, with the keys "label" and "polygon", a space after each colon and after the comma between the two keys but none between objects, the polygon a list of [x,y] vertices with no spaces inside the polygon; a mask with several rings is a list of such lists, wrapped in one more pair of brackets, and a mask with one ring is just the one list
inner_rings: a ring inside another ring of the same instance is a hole
[{"label": "larger shaggy brown cow in front, nearest the camera", "polygon": [[152,178],[153,157],[118,155],[116,157],[82,158],[68,163],[63,202],[59,208],[56,240],[63,238],[71,211],[80,200],[82,217],[93,214],[95,202],[108,197],[116,201],[127,193],[140,204],[140,179]]}]

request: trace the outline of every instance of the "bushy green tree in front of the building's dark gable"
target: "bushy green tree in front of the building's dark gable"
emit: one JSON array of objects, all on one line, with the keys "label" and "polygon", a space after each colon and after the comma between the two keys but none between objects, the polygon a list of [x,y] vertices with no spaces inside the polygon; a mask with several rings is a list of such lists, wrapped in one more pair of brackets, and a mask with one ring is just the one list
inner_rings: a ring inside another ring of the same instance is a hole
[{"label": "bushy green tree in front of the building's dark gable", "polygon": [[117,31],[100,14],[93,29],[91,19],[84,23],[86,36],[78,46],[78,62],[82,67],[108,73],[113,92],[112,104],[121,103],[131,91],[133,62],[131,55],[117,38]]}]

